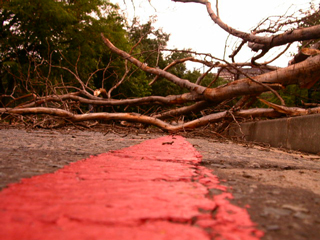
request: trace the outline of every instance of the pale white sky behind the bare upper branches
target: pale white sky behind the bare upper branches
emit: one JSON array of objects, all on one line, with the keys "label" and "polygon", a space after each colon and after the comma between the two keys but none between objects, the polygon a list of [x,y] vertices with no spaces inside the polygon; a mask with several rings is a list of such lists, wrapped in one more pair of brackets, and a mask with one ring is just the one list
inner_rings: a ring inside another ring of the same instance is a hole
[{"label": "pale white sky behind the bare upper branches", "polygon": [[[320,0],[220,0],[220,18],[229,26],[244,32],[250,32],[262,19],[268,16],[279,16],[285,13],[308,9],[310,1],[319,5]],[[139,17],[141,23],[150,16],[157,16],[156,28],[162,28],[170,34],[167,48],[189,49],[200,53],[210,53],[215,57],[228,59],[236,38],[217,26],[209,17],[205,5],[199,3],[181,3],[171,0],[111,0],[120,6],[128,20]],[[212,8],[215,9],[215,0]],[[133,4],[134,3],[134,4]],[[228,39],[228,41],[227,41]],[[238,41],[239,42],[239,41]],[[227,43],[227,47],[225,45]],[[270,60],[283,47],[275,49],[263,60]],[[281,59],[272,65],[285,67],[297,51],[294,45]],[[246,62],[255,53],[246,48],[236,57],[237,62]],[[198,68],[199,64],[189,64],[190,68]]]}]

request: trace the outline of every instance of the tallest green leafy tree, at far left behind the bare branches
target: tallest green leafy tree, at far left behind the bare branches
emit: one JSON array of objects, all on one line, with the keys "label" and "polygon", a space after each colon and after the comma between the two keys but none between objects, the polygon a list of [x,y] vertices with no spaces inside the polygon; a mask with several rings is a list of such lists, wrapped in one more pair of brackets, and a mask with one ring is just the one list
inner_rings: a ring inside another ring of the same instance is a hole
[{"label": "tallest green leafy tree, at far left behind the bare branches", "polygon": [[0,11],[0,94],[10,93],[14,86],[21,86],[21,94],[42,94],[48,77],[52,85],[63,79],[65,85],[79,87],[72,74],[50,68],[49,63],[67,67],[85,81],[111,58],[101,32],[129,48],[124,47],[124,19],[108,1],[11,0],[2,1]]}]

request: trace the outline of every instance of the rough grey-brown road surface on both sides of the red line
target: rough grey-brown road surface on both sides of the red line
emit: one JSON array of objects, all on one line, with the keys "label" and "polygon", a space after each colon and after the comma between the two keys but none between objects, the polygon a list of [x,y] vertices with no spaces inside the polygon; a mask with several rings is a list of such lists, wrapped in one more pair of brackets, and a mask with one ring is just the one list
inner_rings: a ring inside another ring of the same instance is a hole
[{"label": "rough grey-brown road surface on both sides of the red line", "polygon": [[[154,129],[108,125],[90,131],[0,125],[0,188],[161,135],[165,133]],[[319,239],[320,156],[221,141],[213,134],[182,135],[202,154],[203,164],[230,187],[231,201],[248,207],[252,220],[265,231],[263,239]]]}]

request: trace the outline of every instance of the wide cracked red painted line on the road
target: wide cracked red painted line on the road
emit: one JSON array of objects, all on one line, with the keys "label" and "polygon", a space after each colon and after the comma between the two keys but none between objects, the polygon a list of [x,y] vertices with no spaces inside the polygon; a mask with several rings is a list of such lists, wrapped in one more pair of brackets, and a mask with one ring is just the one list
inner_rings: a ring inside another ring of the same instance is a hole
[{"label": "wide cracked red painted line on the road", "polygon": [[23,179],[0,192],[1,239],[260,239],[200,161],[167,136]]}]

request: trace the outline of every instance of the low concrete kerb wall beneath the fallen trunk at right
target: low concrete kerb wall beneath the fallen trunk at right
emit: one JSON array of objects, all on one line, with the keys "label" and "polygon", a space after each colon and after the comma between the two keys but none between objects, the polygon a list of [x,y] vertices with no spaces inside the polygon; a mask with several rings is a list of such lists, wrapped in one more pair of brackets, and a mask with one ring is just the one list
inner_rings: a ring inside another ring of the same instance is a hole
[{"label": "low concrete kerb wall beneath the fallen trunk at right", "polygon": [[234,124],[229,135],[273,147],[320,153],[320,114],[243,123],[241,130],[245,136]]}]

